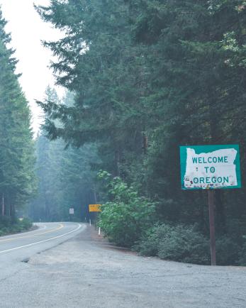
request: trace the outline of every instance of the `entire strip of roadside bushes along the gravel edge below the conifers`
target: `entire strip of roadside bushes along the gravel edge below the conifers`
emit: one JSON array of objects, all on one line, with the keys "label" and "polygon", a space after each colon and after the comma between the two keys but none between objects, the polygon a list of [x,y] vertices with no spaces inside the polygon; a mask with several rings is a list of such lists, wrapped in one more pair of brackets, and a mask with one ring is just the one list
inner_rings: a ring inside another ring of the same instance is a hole
[{"label": "entire strip of roadside bushes along the gravel edge below the conifers", "polygon": [[[199,224],[160,221],[157,203],[139,197],[133,187],[108,172],[100,171],[98,177],[111,199],[102,205],[98,221],[109,241],[140,255],[185,263],[211,263],[208,232],[202,232]],[[234,240],[226,235],[217,237],[218,265],[246,265],[246,237],[239,241],[237,236],[233,234]]]}]

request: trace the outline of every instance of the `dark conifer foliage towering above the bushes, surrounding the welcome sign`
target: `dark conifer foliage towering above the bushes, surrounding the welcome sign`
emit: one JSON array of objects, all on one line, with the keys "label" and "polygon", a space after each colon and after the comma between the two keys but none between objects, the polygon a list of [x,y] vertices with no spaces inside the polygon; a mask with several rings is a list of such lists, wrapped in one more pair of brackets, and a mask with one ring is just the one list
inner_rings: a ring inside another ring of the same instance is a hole
[{"label": "dark conifer foliage towering above the bushes, surrounding the welcome sign", "polygon": [[[245,1],[53,0],[37,9],[64,31],[45,45],[59,59],[57,82],[76,93],[73,106],[40,103],[48,136],[96,143],[104,170],[156,201],[161,222],[197,224],[208,236],[206,194],[180,189],[179,145],[239,143],[245,158]],[[220,247],[225,237],[242,247],[245,201],[245,187],[216,191]]]}]

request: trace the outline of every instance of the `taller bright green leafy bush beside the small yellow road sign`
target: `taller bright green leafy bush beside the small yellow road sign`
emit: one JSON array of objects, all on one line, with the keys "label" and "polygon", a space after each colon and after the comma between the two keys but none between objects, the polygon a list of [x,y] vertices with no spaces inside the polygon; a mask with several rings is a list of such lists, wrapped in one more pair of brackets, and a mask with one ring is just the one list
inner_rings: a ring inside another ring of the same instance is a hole
[{"label": "taller bright green leafy bush beside the small yellow road sign", "polygon": [[[105,180],[107,172],[100,172]],[[139,240],[142,232],[150,228],[155,215],[155,204],[138,197],[133,187],[115,177],[108,184],[111,202],[101,207],[99,226],[110,241],[119,246],[131,247]]]}]

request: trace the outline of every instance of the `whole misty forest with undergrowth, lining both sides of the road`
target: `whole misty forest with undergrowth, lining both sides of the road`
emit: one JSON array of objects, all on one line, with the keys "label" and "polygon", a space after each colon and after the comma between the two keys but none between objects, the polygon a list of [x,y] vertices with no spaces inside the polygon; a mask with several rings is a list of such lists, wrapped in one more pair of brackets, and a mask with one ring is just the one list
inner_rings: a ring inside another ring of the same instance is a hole
[{"label": "whole misty forest with undergrowth, lining both sides of the road", "polygon": [[[18,172],[5,170],[5,160],[16,153],[7,148],[4,158],[1,146],[7,207],[26,202],[35,221],[70,219],[73,207],[72,219],[88,221],[88,205],[100,203],[91,218],[118,246],[209,264],[207,192],[181,189],[179,146],[238,144],[242,188],[215,189],[216,250],[219,265],[246,265],[246,1],[52,0],[35,9],[62,31],[43,45],[67,94],[59,99],[48,87],[37,101],[45,123],[35,165],[28,127],[0,114],[1,127],[11,126],[1,145],[18,145],[15,167],[25,173],[21,188],[8,184]],[[6,40],[1,35],[0,65],[11,62],[11,83],[0,99],[13,93],[12,109],[28,119]]]}]

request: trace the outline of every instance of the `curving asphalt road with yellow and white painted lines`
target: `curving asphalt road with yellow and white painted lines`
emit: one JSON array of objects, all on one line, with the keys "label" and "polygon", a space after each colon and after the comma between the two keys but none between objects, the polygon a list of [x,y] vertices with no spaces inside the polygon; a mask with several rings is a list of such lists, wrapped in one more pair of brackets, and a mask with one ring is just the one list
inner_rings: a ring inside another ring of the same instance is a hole
[{"label": "curving asphalt road with yellow and white painted lines", "polygon": [[[0,307],[5,307],[1,294],[4,282],[22,270],[30,257],[59,245],[85,229],[81,224],[63,222],[36,225],[38,229],[34,231],[0,237]],[[17,282],[17,285],[20,283]],[[13,306],[8,307],[23,307],[21,304],[14,306],[15,297],[12,299]]]}]

